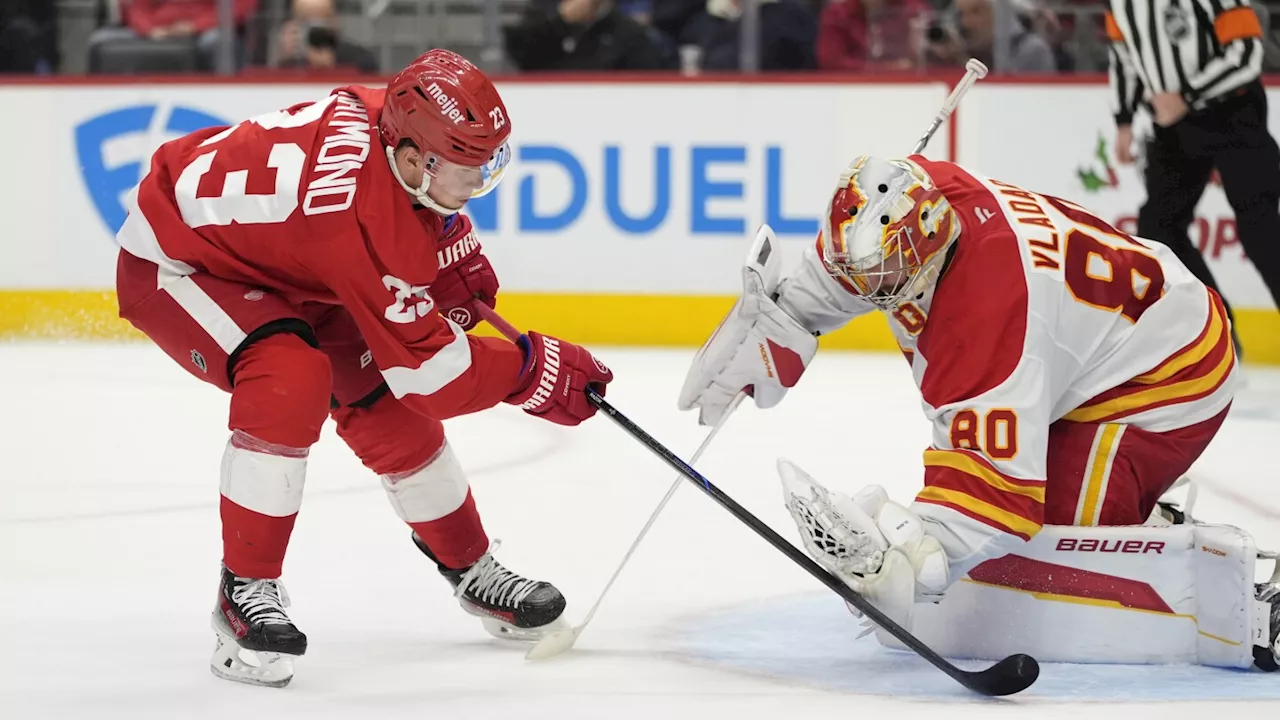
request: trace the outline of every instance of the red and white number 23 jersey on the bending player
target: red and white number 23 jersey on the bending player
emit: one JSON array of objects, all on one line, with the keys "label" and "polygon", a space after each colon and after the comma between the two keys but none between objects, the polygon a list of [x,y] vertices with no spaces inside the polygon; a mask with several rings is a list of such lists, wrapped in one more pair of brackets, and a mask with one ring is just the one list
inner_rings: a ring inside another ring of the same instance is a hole
[{"label": "red and white number 23 jersey on the bending player", "polygon": [[[384,94],[338,88],[163,145],[120,247],[156,263],[160,284],[197,319],[212,315],[182,282],[193,273],[342,305],[396,397],[435,418],[490,407],[515,388],[524,355],[438,313],[428,292],[436,252],[475,238],[466,217],[416,209],[392,174],[378,132]],[[228,352],[255,329],[225,325],[206,329]]]}]

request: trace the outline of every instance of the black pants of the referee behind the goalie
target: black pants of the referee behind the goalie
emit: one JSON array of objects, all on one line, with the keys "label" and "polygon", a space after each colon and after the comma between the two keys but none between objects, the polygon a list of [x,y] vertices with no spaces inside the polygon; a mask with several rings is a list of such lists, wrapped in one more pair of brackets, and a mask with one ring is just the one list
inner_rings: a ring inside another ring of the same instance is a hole
[{"label": "black pants of the referee behind the goalie", "polygon": [[1267,132],[1262,83],[1167,128],[1156,126],[1146,151],[1147,202],[1138,210],[1138,236],[1167,245],[1201,282],[1217,290],[1188,234],[1196,204],[1217,168],[1240,246],[1280,304],[1280,147]]}]

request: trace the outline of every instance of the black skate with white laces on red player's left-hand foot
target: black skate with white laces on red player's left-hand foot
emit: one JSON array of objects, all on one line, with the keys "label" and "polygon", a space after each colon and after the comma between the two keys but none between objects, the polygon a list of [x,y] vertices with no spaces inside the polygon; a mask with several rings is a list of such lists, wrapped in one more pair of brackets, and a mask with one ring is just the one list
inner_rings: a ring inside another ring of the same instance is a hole
[{"label": "black skate with white laces on red player's left-hand foot", "polygon": [[306,653],[307,637],[284,612],[288,606],[280,580],[239,578],[224,566],[214,609],[214,675],[273,688],[289,684],[293,657]]}]

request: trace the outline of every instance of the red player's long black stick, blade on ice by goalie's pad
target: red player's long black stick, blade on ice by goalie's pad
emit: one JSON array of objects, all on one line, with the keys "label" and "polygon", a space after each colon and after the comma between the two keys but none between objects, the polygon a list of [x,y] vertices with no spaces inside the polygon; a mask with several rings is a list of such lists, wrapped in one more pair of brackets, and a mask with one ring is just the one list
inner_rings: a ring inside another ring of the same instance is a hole
[{"label": "red player's long black stick, blade on ice by goalie's pad", "polygon": [[[511,340],[520,337],[520,331],[512,327],[511,323],[502,319],[500,315],[486,305],[476,302],[475,309],[485,322],[497,328],[498,332],[506,337]],[[842,580],[840,580],[840,578],[836,578],[820,565],[814,562],[808,555],[787,542],[786,538],[776,533],[773,528],[765,525],[759,518],[739,505],[732,497],[724,495],[724,492],[713,486],[712,482],[698,473],[698,470],[690,468],[689,464],[676,456],[676,454],[667,450],[662,443],[649,436],[649,433],[644,432],[644,429],[627,419],[626,415],[618,413],[618,410],[609,405],[609,402],[605,401],[600,393],[588,388],[586,397],[591,405],[608,415],[611,420],[617,423],[623,432],[634,437],[637,442],[640,442],[640,445],[644,445],[650,452],[660,457],[667,465],[671,466],[671,469],[680,473],[681,477],[698,486],[704,493],[710,496],[712,500],[719,503],[721,507],[728,510],[731,515],[737,518],[740,523],[764,538],[764,541],[772,544],[774,550],[786,555],[792,562],[803,568],[806,573],[838,594],[841,600],[860,610],[864,616],[883,628],[887,633],[901,641],[902,644],[915,651],[916,655],[927,660],[934,667],[946,673],[950,678],[965,688],[986,696],[1009,696],[1029,688],[1039,676],[1039,664],[1034,657],[1023,653],[1010,655],[986,670],[961,670],[960,667],[956,667],[945,657],[934,652],[933,648],[920,642],[919,638],[881,612],[874,605],[870,603],[870,601],[846,585]]]}]

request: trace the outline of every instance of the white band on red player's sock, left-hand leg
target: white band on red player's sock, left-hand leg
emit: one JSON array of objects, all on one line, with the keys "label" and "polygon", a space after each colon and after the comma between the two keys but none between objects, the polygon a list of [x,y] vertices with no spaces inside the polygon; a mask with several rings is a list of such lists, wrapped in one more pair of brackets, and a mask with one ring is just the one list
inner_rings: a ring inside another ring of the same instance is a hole
[{"label": "white band on red player's sock, left-hand leg", "polygon": [[307,450],[274,446],[237,430],[223,452],[223,497],[271,518],[297,515],[307,477]]}]

